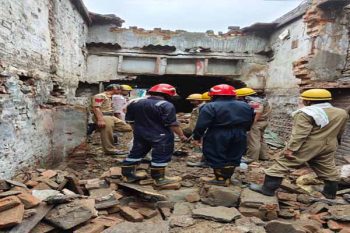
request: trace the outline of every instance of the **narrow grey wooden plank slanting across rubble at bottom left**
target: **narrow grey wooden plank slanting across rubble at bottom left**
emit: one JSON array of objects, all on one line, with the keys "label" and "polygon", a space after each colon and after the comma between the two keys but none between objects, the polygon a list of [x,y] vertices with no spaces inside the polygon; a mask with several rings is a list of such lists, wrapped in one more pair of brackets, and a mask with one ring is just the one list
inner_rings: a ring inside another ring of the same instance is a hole
[{"label": "narrow grey wooden plank slanting across rubble at bottom left", "polygon": [[5,231],[7,233],[29,233],[53,208],[53,205],[46,205],[41,203],[39,207],[36,208],[37,213],[30,218],[24,219],[22,223],[13,227],[11,230]]}]

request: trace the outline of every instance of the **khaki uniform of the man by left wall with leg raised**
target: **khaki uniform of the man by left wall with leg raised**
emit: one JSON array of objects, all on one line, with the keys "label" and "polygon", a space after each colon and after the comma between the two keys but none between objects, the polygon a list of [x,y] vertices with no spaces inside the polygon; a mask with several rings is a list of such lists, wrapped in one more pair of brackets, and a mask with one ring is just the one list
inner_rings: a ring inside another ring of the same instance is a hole
[{"label": "khaki uniform of the man by left wall with leg raised", "polygon": [[[113,153],[116,151],[116,147],[113,145],[113,130],[119,132],[130,132],[132,131],[131,126],[113,116],[111,96],[109,96],[106,92],[93,96],[91,105],[92,108],[100,108],[101,112],[103,113],[103,119],[106,123],[104,128],[99,128],[103,150],[106,153]],[[97,122],[95,116],[93,117],[93,121],[95,123]]]}]

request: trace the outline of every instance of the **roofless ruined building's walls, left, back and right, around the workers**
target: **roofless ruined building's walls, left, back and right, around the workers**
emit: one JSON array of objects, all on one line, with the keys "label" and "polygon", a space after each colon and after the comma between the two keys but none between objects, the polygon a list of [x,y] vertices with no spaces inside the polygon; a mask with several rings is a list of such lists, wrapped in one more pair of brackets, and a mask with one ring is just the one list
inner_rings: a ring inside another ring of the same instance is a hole
[{"label": "roofless ruined building's walls, left, back and right, around the workers", "polygon": [[[167,82],[182,97],[249,86],[271,101],[270,128],[282,138],[301,90],[328,88],[335,106],[350,106],[349,1],[305,1],[272,23],[219,34],[125,29],[81,0],[0,3],[1,178],[55,164],[83,143],[89,97],[111,82]],[[349,151],[348,127],[338,159]]]}]

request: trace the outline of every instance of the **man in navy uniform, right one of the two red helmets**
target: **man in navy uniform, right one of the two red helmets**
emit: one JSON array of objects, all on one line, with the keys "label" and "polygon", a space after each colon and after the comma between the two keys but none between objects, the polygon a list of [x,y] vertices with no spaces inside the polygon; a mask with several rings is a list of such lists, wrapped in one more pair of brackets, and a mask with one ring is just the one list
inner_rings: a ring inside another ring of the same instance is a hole
[{"label": "man in navy uniform, right one of the two red helmets", "polygon": [[215,175],[209,183],[228,186],[246,150],[246,132],[252,125],[254,111],[235,99],[235,88],[230,85],[216,85],[209,95],[212,101],[201,108],[193,138],[197,144],[203,138],[203,155]]}]

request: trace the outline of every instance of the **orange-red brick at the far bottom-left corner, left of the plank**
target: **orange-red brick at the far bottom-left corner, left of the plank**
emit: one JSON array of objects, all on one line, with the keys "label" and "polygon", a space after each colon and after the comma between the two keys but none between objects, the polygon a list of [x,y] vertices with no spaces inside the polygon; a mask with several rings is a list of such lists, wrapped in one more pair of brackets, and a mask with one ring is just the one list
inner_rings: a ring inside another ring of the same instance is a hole
[{"label": "orange-red brick at the far bottom-left corner, left of the plank", "polygon": [[[19,201],[19,200],[18,200]],[[20,203],[0,212],[0,229],[15,226],[22,222],[24,215],[24,205]]]}]

